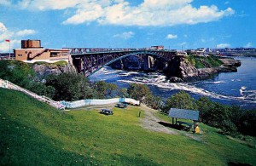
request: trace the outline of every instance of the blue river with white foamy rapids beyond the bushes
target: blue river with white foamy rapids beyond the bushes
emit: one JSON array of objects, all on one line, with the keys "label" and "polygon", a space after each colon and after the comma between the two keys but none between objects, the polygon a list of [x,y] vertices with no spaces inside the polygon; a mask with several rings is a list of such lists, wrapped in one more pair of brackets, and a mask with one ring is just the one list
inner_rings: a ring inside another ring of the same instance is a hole
[{"label": "blue river with white foamy rapids beyond the bushes", "polygon": [[166,76],[151,72],[126,72],[104,67],[90,76],[90,81],[104,80],[127,88],[129,83],[145,83],[155,95],[166,99],[179,90],[184,90],[198,99],[207,96],[225,105],[256,108],[256,58],[236,57],[241,60],[237,72],[222,72],[214,77],[193,83],[170,83]]}]

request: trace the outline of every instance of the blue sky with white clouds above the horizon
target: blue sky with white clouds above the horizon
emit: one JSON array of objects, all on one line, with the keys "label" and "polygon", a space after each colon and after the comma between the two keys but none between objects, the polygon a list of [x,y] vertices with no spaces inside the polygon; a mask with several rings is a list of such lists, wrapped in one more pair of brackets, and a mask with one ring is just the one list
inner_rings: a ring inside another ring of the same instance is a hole
[{"label": "blue sky with white clouds above the horizon", "polygon": [[0,53],[44,48],[256,47],[256,0],[0,0]]}]

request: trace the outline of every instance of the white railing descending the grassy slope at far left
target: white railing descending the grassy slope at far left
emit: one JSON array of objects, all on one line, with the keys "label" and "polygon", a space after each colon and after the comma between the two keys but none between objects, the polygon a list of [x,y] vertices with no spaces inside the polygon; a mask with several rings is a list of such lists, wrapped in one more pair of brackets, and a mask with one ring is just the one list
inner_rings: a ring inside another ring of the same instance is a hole
[{"label": "white railing descending the grassy slope at far left", "polygon": [[46,97],[44,95],[35,94],[35,93],[33,93],[33,92],[31,92],[27,89],[23,89],[20,86],[14,84],[14,83],[10,83],[9,81],[3,80],[1,78],[0,78],[0,87],[2,87],[4,89],[18,90],[20,92],[23,92],[24,94],[32,96],[33,98],[35,98],[37,100],[43,101],[43,102],[49,104],[50,106],[54,106],[57,109],[64,109],[65,108],[65,106],[61,105],[61,102],[59,102],[59,101],[51,100],[51,99],[49,99],[48,97]]}]

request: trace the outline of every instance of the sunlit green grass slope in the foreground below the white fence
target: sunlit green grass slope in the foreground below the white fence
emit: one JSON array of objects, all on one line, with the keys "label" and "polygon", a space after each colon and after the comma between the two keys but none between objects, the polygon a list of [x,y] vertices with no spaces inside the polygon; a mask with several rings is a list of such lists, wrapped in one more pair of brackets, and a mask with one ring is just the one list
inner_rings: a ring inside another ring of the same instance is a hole
[{"label": "sunlit green grass slope in the foreground below the white fence", "polygon": [[[140,107],[63,112],[0,89],[0,165],[256,164],[256,149],[201,125],[202,140],[143,129]],[[160,115],[168,120],[168,117]]]}]

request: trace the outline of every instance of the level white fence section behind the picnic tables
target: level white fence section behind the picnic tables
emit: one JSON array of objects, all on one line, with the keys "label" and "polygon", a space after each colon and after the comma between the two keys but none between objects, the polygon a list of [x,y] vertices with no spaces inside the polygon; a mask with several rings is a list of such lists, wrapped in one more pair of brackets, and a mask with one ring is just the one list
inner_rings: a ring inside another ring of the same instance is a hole
[{"label": "level white fence section behind the picnic tables", "polygon": [[66,108],[77,108],[81,106],[89,106],[89,105],[108,105],[118,102],[126,102],[131,105],[139,105],[139,101],[133,100],[130,98],[113,98],[113,99],[91,99],[91,100],[77,100],[77,101],[61,101],[61,105],[64,105]]}]

